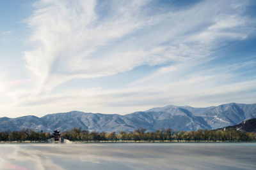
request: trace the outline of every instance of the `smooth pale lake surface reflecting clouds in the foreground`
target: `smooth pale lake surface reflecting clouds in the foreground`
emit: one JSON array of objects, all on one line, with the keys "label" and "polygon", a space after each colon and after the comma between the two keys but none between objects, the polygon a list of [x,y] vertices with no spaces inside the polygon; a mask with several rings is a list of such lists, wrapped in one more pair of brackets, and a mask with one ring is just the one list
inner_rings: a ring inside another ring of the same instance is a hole
[{"label": "smooth pale lake surface reflecting clouds in the foreground", "polygon": [[256,143],[0,144],[0,169],[256,169]]}]

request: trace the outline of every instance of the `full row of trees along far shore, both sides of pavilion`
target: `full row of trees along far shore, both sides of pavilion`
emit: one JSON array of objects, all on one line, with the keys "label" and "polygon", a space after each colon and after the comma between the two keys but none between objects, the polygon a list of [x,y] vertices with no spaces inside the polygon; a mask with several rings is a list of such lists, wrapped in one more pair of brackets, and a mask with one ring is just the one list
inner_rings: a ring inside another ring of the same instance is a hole
[{"label": "full row of trees along far shore, both sides of pavilion", "polygon": [[[31,130],[0,132],[0,141],[31,141],[45,142],[53,136],[49,132]],[[173,129],[158,129],[150,132],[146,129],[136,129],[133,132],[95,132],[74,128],[61,134],[61,138],[81,142],[182,142],[182,141],[256,141],[256,133],[236,131],[236,129],[174,131]]]}]

